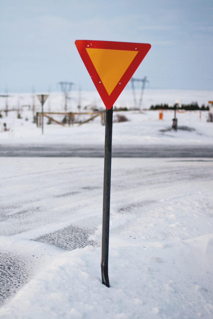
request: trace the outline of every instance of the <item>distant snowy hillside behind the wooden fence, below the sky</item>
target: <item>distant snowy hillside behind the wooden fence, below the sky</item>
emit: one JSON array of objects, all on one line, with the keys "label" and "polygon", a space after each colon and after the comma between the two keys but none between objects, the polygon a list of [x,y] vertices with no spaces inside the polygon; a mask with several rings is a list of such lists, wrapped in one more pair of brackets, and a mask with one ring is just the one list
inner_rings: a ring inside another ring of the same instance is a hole
[{"label": "distant snowy hillside behind the wooden fence, below the sky", "polygon": [[[116,107],[128,107],[133,108],[133,92],[130,89],[130,84],[127,85],[126,89],[120,94],[118,100],[115,102]],[[4,95],[5,93],[1,93]],[[41,110],[41,104],[36,97],[36,94],[49,94],[49,92],[36,92],[35,95],[35,106],[36,110]],[[136,101],[139,104],[141,98],[141,89],[135,89]],[[17,108],[17,105],[31,105],[33,103],[32,93],[8,93],[8,106],[9,108]],[[201,106],[202,104],[208,105],[208,101],[212,100],[213,90],[180,90],[180,89],[148,89],[145,88],[143,93],[142,108],[149,109],[152,104],[167,103],[173,105],[177,101],[181,104],[190,104],[191,102],[198,102]],[[77,106],[81,104],[81,110],[87,109],[91,106],[97,106],[98,108],[103,108],[104,104],[98,94],[94,91],[72,91],[69,93],[69,99],[67,102],[67,107],[69,111],[75,112],[78,110]],[[0,97],[0,109],[5,108],[5,98]],[[49,98],[44,104],[44,110],[61,110],[64,109],[64,96],[61,92],[51,92]]]}]

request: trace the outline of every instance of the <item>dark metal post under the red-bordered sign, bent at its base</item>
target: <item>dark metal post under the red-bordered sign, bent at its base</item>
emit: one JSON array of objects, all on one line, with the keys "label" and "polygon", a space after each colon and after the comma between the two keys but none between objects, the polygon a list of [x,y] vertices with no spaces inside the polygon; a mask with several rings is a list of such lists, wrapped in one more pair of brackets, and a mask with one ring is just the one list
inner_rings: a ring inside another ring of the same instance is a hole
[{"label": "dark metal post under the red-bordered sign, bent at its base", "polygon": [[103,175],[103,226],[101,249],[101,276],[102,284],[110,287],[108,276],[109,231],[110,231],[110,184],[111,184],[111,158],[112,158],[112,113],[113,107],[106,110],[105,123],[105,151]]}]

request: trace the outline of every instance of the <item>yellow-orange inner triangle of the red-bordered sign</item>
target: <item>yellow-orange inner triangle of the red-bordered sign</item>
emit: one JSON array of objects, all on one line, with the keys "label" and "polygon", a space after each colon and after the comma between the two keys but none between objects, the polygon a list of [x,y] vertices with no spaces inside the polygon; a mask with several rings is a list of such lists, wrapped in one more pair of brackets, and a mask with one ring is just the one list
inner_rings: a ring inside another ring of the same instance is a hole
[{"label": "yellow-orange inner triangle of the red-bordered sign", "polygon": [[86,48],[87,53],[110,95],[138,51]]}]

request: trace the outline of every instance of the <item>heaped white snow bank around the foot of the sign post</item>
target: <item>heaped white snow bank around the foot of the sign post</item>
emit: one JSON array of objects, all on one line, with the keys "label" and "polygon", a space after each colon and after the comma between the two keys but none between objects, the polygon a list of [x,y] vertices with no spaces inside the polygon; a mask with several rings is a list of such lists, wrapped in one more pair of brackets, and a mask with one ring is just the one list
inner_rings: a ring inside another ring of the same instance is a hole
[{"label": "heaped white snow bank around the foot of the sign post", "polygon": [[127,239],[122,246],[114,243],[110,289],[100,280],[100,248],[64,253],[1,308],[0,318],[210,319],[207,271],[213,259],[208,253],[206,268],[205,254],[198,252],[196,242],[204,249],[212,240],[213,234],[186,242],[144,241],[140,247]]}]

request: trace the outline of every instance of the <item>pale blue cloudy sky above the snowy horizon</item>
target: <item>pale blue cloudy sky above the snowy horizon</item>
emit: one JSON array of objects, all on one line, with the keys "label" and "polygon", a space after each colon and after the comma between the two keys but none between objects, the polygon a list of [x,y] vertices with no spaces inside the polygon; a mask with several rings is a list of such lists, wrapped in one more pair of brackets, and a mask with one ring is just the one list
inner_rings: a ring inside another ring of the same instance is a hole
[{"label": "pale blue cloudy sky above the snowy horizon", "polygon": [[212,0],[0,0],[0,91],[95,89],[77,39],[150,43],[134,77],[212,90],[212,33]]}]

